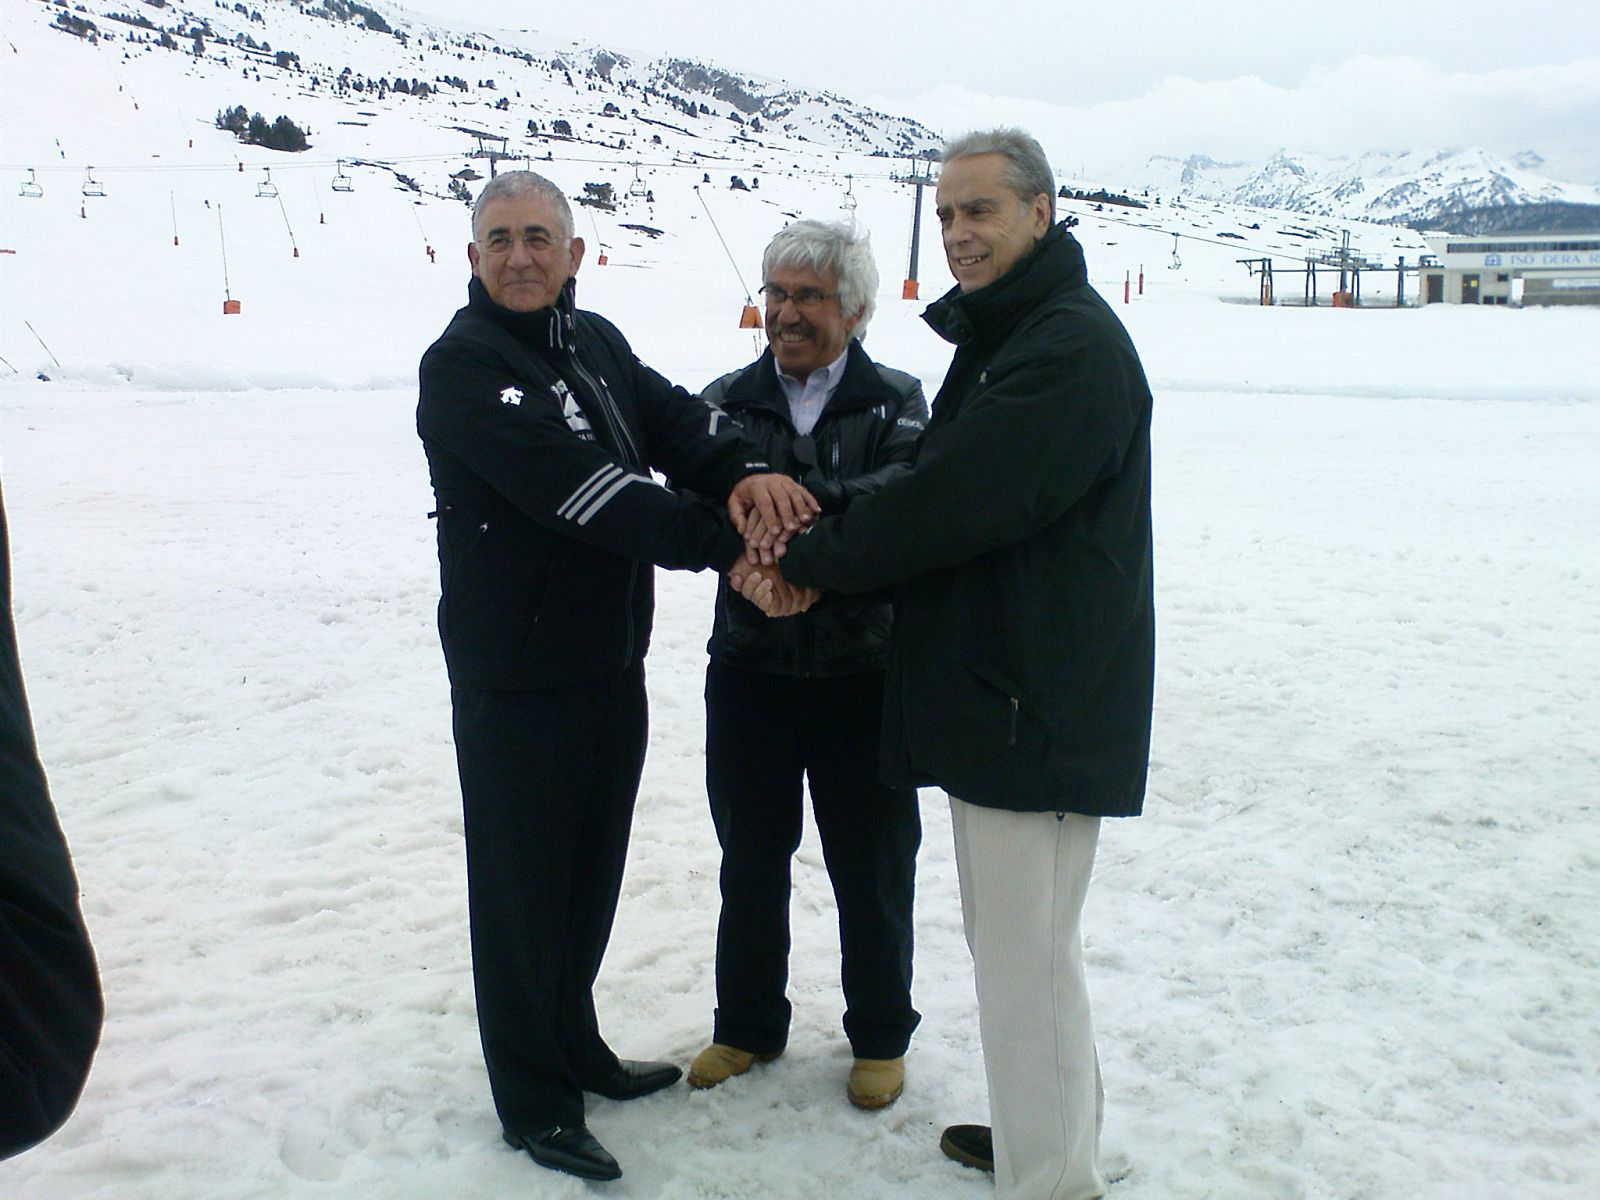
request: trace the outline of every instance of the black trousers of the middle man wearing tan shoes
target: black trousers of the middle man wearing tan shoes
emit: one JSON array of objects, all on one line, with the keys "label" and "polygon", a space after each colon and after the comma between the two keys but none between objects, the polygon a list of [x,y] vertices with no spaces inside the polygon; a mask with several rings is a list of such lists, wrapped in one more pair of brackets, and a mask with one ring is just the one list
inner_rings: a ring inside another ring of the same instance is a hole
[{"label": "black trousers of the middle man wearing tan shoes", "polygon": [[811,782],[838,904],[845,1035],[856,1058],[898,1058],[910,1005],[917,790],[878,782],[883,672],[795,678],[712,662],[706,790],[722,843],[714,1038],[758,1054],[789,1040],[789,886]]}]

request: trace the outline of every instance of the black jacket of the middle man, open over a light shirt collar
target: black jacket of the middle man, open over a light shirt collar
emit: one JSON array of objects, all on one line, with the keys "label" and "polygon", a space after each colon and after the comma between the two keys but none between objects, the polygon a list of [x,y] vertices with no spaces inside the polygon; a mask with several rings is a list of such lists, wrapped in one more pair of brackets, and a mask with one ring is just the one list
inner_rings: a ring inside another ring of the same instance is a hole
[{"label": "black jacket of the middle man, open over a light shirt collar", "polygon": [[[749,366],[730,371],[704,392],[758,446],[774,470],[800,480],[824,514],[843,512],[851,499],[902,472],[928,424],[922,382],[880,366],[861,342],[850,341],[845,373],[811,430],[811,445],[795,451],[789,400],[768,349]],[[710,643],[714,659],[774,675],[848,675],[888,664],[893,608],[888,594],[866,603],[835,597],[779,621],[739,597],[723,579]]]}]

